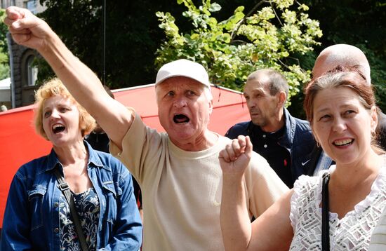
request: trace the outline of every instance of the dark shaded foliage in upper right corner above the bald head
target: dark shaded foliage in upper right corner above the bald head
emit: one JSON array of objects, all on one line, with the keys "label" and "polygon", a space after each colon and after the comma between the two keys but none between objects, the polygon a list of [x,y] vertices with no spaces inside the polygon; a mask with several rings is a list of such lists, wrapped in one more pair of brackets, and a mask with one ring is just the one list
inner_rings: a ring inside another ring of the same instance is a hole
[{"label": "dark shaded foliage in upper right corner above the bald head", "polygon": [[[321,23],[320,50],[348,43],[364,51],[371,67],[377,104],[386,111],[386,2],[374,0],[304,0],[310,16]],[[316,57],[316,55],[315,55]]]}]

